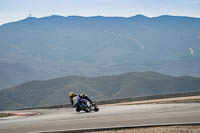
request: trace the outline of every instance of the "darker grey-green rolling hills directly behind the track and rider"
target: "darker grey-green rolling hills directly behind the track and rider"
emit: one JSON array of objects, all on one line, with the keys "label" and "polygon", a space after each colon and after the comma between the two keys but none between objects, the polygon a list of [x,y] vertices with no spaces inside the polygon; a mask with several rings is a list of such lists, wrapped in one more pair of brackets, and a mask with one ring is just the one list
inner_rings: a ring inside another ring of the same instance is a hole
[{"label": "darker grey-green rolling hills directly behind the track and rider", "polygon": [[0,109],[16,109],[69,103],[70,91],[87,94],[95,101],[200,91],[200,78],[173,77],[156,72],[121,75],[67,76],[31,81],[0,91]]}]

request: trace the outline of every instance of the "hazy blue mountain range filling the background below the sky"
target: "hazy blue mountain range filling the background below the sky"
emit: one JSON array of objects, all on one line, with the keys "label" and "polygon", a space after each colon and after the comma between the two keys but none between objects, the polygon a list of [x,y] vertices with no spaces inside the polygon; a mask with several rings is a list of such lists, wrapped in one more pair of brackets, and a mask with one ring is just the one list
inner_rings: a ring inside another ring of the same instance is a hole
[{"label": "hazy blue mountain range filling the background below the sky", "polygon": [[0,26],[0,89],[66,75],[200,76],[200,18],[28,17]]}]

